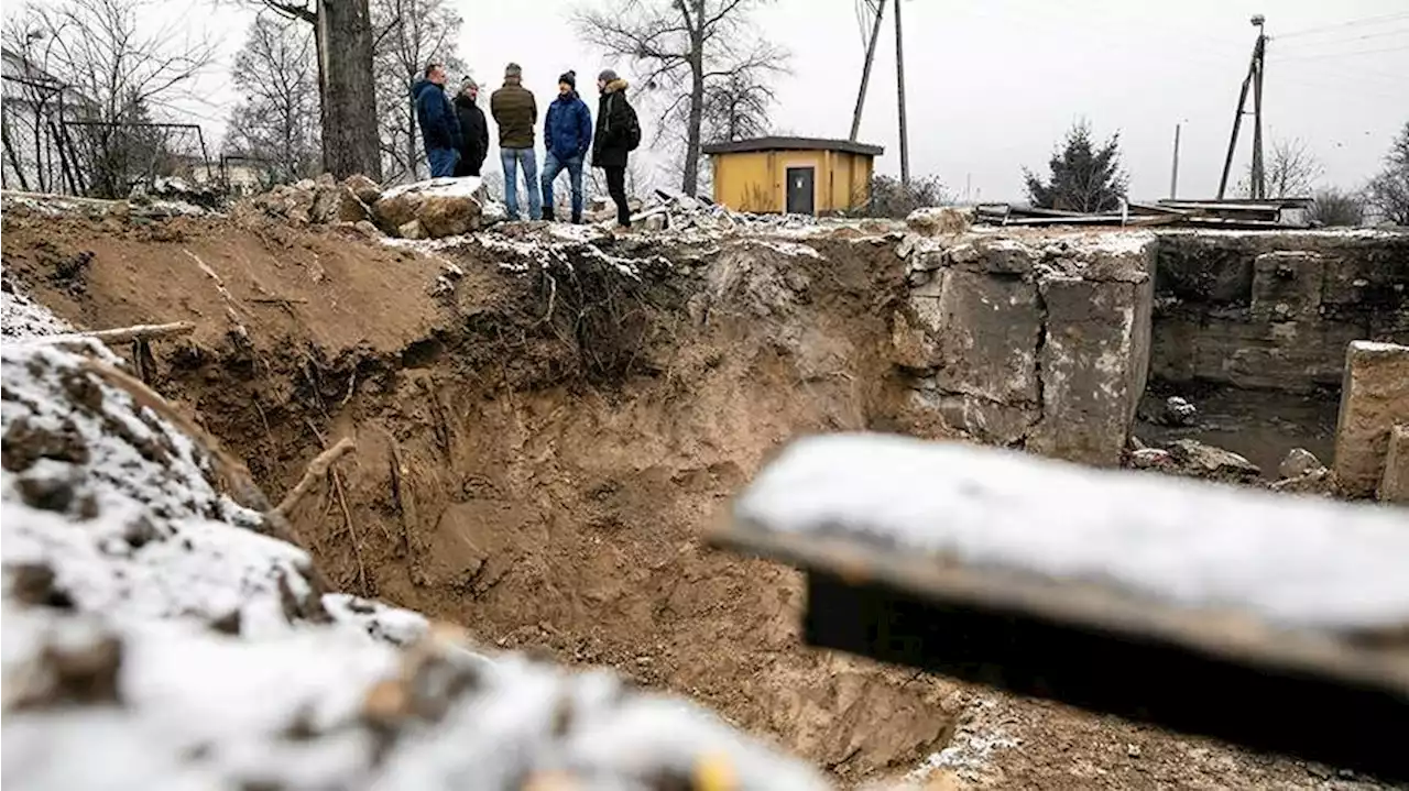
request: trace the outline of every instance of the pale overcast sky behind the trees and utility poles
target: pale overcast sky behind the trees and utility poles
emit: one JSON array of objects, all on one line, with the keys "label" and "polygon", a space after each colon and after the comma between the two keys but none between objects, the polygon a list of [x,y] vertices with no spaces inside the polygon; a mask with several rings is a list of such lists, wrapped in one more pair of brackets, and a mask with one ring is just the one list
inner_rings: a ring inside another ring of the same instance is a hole
[{"label": "pale overcast sky behind the trees and utility poles", "polygon": [[[1131,194],[1169,190],[1174,127],[1184,121],[1181,197],[1217,189],[1239,87],[1255,30],[1268,15],[1267,135],[1301,138],[1324,182],[1357,187],[1409,121],[1409,3],[1405,0],[903,0],[912,175],[938,175],[961,197],[1022,197],[1027,165],[1045,172],[1054,142],[1086,117],[1119,131]],[[461,56],[483,86],[524,66],[547,103],[559,72],[595,75],[603,58],[576,41],[571,0],[457,0]],[[163,0],[189,10],[196,3]],[[227,56],[249,11],[224,7],[199,23],[220,30]],[[895,32],[888,11],[861,125],[898,173]],[[1367,21],[1370,20],[1370,21]],[[778,80],[778,129],[847,137],[864,59],[854,0],[776,0],[758,14],[792,53]],[[227,58],[228,62],[228,58]],[[630,77],[627,62],[606,63]],[[583,80],[586,83],[586,80]],[[200,113],[216,125],[235,94],[211,75]],[[590,94],[590,90],[585,90]],[[589,100],[592,97],[589,96]],[[1250,127],[1240,144],[1246,166]],[[218,137],[218,135],[217,135]]]}]

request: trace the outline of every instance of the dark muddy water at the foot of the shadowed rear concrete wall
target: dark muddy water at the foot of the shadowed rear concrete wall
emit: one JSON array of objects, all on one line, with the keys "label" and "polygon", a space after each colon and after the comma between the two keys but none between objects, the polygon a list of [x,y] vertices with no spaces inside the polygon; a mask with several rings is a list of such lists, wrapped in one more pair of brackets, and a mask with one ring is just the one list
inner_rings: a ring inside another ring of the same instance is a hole
[{"label": "dark muddy water at the foot of the shadowed rear concrete wall", "polygon": [[[1195,425],[1171,428],[1147,419],[1147,415],[1160,414],[1168,396],[1182,396],[1198,407]],[[1295,396],[1236,387],[1179,393],[1178,387],[1153,387],[1141,404],[1141,419],[1134,431],[1154,446],[1196,439],[1226,448],[1261,467],[1264,477],[1277,479],[1277,467],[1292,448],[1305,448],[1322,463],[1332,463],[1337,410],[1334,394]]]}]

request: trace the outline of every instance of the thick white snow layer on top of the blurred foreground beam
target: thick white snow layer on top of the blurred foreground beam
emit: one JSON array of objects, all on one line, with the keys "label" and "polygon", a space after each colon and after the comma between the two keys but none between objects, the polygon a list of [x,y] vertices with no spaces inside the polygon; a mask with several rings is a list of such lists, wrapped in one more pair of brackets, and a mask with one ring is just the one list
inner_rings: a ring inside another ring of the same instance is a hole
[{"label": "thick white snow layer on top of the blurred foreground beam", "polygon": [[1293,628],[1409,621],[1409,531],[1403,514],[1377,505],[851,434],[789,446],[735,515]]}]

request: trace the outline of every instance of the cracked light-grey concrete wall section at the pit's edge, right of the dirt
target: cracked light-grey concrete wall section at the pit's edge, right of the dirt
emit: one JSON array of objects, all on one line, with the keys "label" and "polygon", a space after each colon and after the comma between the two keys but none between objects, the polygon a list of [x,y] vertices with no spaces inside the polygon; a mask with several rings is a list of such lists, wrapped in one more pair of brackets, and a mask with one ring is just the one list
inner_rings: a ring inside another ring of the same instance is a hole
[{"label": "cracked light-grey concrete wall section at the pit's edge, right of the dirt", "polygon": [[1154,243],[912,239],[893,341],[916,407],[983,442],[1117,464],[1148,373]]}]

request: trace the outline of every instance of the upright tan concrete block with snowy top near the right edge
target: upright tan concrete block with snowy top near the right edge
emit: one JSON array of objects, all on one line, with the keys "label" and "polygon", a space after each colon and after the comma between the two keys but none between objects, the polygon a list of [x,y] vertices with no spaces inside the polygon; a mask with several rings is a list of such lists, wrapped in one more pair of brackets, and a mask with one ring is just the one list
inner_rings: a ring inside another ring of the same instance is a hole
[{"label": "upright tan concrete block with snowy top near the right edge", "polygon": [[1374,497],[1389,432],[1409,422],[1409,346],[1355,341],[1346,357],[1336,426],[1336,481],[1350,497]]}]

